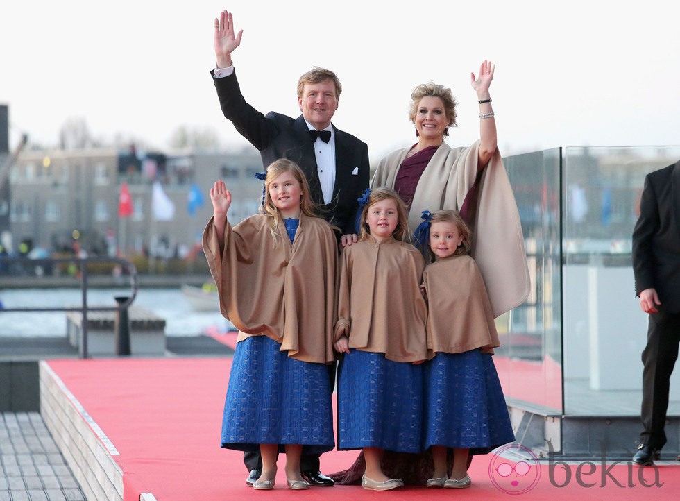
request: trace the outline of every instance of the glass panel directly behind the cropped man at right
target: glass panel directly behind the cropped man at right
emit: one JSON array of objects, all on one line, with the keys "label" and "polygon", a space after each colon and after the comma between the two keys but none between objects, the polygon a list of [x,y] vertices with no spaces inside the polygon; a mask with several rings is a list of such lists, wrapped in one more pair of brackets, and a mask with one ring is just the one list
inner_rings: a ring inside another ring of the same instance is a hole
[{"label": "glass panel directly behind the cropped man at right", "polygon": [[[638,416],[647,315],[634,292],[631,235],[645,175],[677,146],[564,148],[564,413]],[[680,374],[669,415],[680,414]]]}]

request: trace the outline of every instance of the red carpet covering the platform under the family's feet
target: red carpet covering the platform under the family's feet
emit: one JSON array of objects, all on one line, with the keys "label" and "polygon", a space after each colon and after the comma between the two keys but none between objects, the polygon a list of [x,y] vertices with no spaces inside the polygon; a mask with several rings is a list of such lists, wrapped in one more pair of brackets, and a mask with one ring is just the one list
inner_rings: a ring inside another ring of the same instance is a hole
[{"label": "red carpet covering the platform under the family's feet", "polygon": [[[409,486],[390,493],[365,491],[360,486],[335,486],[291,493],[286,488],[284,457],[274,491],[264,493],[246,487],[241,452],[219,447],[219,432],[231,359],[95,359],[52,360],[49,366],[92,416],[119,450],[117,463],[124,470],[124,500],[137,501],[140,493],[153,493],[159,501],[300,499],[309,500],[507,500],[511,491],[529,489],[525,477],[516,486],[502,484],[489,464],[500,464],[493,455],[477,457],[470,466],[473,486],[425,489]],[[357,452],[328,452],[321,457],[326,473],[343,470]],[[660,487],[640,485],[638,468],[627,464],[606,465],[603,477],[598,459],[594,464],[570,465],[570,478],[563,467],[547,462],[536,468],[536,485],[521,499],[568,499],[613,497],[618,500],[676,499],[680,491],[680,466],[658,466]],[[519,468],[518,468],[519,469]],[[654,468],[645,468],[644,480],[654,484]],[[631,485],[629,486],[629,473]],[[492,482],[492,477],[494,482]],[[601,487],[604,478],[604,488]],[[580,484],[579,484],[580,481]],[[523,483],[522,483],[523,482]],[[621,484],[619,486],[618,484]],[[563,485],[561,487],[555,486]],[[593,484],[592,486],[588,486]],[[498,487],[497,487],[498,485]]]}]

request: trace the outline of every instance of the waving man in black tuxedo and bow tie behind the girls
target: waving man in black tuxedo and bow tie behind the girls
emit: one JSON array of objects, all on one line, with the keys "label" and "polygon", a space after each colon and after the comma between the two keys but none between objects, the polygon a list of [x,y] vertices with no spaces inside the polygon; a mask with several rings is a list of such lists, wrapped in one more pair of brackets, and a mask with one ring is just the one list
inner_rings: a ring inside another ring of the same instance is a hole
[{"label": "waving man in black tuxedo and bow tie behind the girls", "polygon": [[[300,117],[276,112],[265,116],[246,103],[232,64],[231,54],[241,44],[243,30],[235,32],[232,14],[226,10],[214,27],[217,65],[211,74],[224,116],[260,151],[265,168],[278,158],[296,162],[321,215],[340,229],[342,246],[356,242],[357,199],[368,188],[368,146],[331,124],[342,90],[337,76],[327,69],[312,69],[298,80]],[[334,372],[329,366],[332,384]],[[246,452],[244,462],[250,471],[246,484],[252,486],[262,473],[262,460],[259,453]],[[312,486],[333,485],[319,471],[318,455],[303,455],[300,470]]]}]

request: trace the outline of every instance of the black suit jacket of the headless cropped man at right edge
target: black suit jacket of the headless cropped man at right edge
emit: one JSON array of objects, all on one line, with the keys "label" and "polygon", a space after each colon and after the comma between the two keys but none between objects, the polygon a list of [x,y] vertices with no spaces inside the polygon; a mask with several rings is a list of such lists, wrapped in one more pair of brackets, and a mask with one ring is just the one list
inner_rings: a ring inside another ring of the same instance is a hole
[{"label": "black suit jacket of the headless cropped man at right edge", "polygon": [[680,161],[645,177],[633,272],[636,294],[654,287],[661,307],[680,312]]}]

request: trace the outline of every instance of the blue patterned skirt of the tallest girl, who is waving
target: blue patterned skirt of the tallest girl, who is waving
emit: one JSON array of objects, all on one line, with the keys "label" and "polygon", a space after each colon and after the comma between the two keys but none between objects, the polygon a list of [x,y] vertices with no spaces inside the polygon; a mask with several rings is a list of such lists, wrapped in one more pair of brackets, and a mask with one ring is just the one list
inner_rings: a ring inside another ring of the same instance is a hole
[{"label": "blue patterned skirt of the tallest girl, who is waving", "polygon": [[222,418],[221,446],[259,451],[260,443],[303,445],[303,454],[335,446],[328,370],[292,359],[266,336],[239,341]]}]

